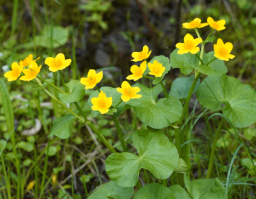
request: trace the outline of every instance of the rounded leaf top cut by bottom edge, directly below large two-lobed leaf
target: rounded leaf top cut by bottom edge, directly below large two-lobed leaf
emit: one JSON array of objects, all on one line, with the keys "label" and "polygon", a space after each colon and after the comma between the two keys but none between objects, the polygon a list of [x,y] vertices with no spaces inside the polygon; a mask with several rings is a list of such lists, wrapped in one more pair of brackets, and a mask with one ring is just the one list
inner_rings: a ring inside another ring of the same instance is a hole
[{"label": "rounded leaf top cut by bottom edge, directly below large two-lobed leaf", "polygon": [[171,191],[158,183],[151,183],[138,190],[134,199],[176,199]]}]

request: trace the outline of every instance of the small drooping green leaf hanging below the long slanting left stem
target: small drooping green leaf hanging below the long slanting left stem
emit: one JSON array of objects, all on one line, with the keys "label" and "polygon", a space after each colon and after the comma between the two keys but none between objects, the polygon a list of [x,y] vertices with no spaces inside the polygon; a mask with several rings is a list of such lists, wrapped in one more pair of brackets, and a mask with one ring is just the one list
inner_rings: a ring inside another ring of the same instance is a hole
[{"label": "small drooping green leaf hanging below the long slanting left stem", "polygon": [[72,114],[67,114],[64,117],[55,119],[52,123],[52,131],[49,134],[49,137],[53,137],[55,135],[61,139],[69,138],[72,133],[72,123],[76,119],[77,118]]}]

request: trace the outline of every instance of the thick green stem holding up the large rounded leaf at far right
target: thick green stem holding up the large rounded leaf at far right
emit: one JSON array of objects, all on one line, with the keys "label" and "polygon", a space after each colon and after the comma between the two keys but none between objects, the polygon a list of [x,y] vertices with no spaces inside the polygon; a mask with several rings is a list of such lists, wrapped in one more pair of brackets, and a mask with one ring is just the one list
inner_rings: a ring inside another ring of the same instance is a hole
[{"label": "thick green stem holding up the large rounded leaf at far right", "polygon": [[208,171],[206,174],[206,178],[211,178],[211,171],[213,169],[213,161],[214,161],[214,154],[215,154],[215,150],[216,150],[217,140],[219,139],[220,133],[222,132],[222,125],[223,125],[224,121],[225,121],[225,119],[224,119],[224,117],[222,117],[222,120],[220,121],[220,124],[217,128],[217,132],[213,139],[213,145],[211,147],[211,155],[210,155],[210,161],[209,161],[209,165],[208,165]]}]

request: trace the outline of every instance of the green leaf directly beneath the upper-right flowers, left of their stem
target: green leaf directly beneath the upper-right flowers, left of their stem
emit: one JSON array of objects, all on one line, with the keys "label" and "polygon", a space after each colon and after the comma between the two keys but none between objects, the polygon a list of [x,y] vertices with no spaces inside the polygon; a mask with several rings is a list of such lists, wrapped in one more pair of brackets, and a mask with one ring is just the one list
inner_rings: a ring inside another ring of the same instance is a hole
[{"label": "green leaf directly beneath the upper-right flowers, left of their stem", "polygon": [[[187,75],[191,73],[193,69],[196,69],[198,67],[199,60],[195,55],[191,53],[182,54],[182,55],[177,54],[178,50],[179,49],[175,49],[170,54],[171,67],[173,67],[173,69],[180,68],[180,71],[183,74]],[[200,56],[200,51],[197,54],[198,56]],[[208,59],[206,58],[206,53],[204,53],[203,62],[204,63],[208,62]]]}]

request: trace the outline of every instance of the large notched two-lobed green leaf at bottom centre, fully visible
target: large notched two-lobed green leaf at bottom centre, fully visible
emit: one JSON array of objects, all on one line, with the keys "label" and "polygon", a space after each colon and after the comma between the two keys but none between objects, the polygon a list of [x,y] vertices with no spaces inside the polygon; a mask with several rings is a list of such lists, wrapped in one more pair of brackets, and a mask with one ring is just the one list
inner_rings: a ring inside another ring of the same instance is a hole
[{"label": "large notched two-lobed green leaf at bottom centre, fully visible", "polygon": [[178,151],[160,130],[136,130],[132,140],[138,156],[115,153],[107,157],[106,172],[122,187],[134,187],[140,169],[148,169],[155,178],[167,179],[178,166]]}]

